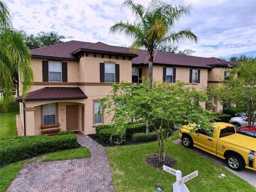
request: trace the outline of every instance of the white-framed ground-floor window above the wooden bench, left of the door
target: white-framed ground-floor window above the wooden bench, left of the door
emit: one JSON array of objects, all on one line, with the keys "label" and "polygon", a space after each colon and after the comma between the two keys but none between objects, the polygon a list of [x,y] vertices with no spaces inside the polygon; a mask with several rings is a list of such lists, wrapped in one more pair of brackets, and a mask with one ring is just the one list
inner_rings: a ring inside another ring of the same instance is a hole
[{"label": "white-framed ground-floor window above the wooden bench, left of the door", "polygon": [[56,124],[56,103],[43,105],[43,124]]}]

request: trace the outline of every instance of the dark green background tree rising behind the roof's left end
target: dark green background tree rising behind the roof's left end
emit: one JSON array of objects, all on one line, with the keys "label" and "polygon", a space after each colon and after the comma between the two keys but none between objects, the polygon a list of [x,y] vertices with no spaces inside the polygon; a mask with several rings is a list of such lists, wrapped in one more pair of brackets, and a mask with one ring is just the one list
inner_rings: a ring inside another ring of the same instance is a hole
[{"label": "dark green background tree rising behind the roof's left end", "polygon": [[30,48],[30,50],[62,43],[62,39],[66,38],[65,36],[59,35],[58,32],[54,31],[41,31],[37,35],[27,34],[24,30],[22,30],[21,33],[23,34],[25,43],[28,46],[28,48]]}]

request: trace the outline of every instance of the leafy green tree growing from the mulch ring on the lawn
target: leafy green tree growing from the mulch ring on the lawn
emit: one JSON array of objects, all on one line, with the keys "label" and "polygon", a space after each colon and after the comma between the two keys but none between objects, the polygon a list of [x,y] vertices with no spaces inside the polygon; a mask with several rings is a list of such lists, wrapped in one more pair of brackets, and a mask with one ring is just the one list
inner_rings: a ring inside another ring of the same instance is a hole
[{"label": "leafy green tree growing from the mulch ring on the lawn", "polygon": [[150,119],[158,138],[159,161],[165,161],[167,139],[174,124],[196,124],[195,128],[207,132],[212,128],[208,118],[211,112],[200,105],[207,99],[206,93],[186,85],[180,81],[175,84],[153,81],[151,86],[148,81],[121,82],[113,84],[110,94],[99,102],[104,104],[107,114],[113,115],[112,122],[121,124],[120,127],[132,120]]}]

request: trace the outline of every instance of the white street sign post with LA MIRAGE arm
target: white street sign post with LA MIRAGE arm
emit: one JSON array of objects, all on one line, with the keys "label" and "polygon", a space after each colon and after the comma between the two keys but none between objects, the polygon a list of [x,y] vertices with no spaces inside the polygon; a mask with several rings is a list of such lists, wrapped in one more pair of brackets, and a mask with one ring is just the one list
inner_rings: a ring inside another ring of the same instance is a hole
[{"label": "white street sign post with LA MIRAGE arm", "polygon": [[174,192],[189,192],[187,186],[184,183],[198,176],[198,171],[194,171],[191,174],[182,177],[182,172],[180,170],[175,170],[165,165],[163,165],[163,170],[170,174],[176,175],[176,182],[172,184]]}]

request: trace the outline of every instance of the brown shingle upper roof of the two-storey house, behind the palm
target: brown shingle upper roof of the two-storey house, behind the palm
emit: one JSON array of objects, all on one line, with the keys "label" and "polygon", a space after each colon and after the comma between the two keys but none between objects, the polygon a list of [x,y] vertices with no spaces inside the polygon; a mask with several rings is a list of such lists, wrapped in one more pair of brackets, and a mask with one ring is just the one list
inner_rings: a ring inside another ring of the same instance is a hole
[{"label": "brown shingle upper roof of the two-storey house, behind the palm", "polygon": [[[146,50],[138,50],[137,52],[132,53],[130,52],[130,48],[111,46],[102,42],[91,43],[72,40],[60,44],[33,49],[31,50],[31,54],[32,58],[52,58],[79,61],[77,53],[81,51],[130,56],[133,58],[132,64],[148,64],[148,53]],[[162,52],[160,50],[155,50],[153,64],[161,64],[166,66],[189,66],[196,68],[213,68],[214,66],[227,66],[228,64],[236,65],[236,62],[220,60],[214,57],[204,58],[172,54]]]}]

